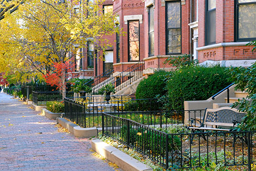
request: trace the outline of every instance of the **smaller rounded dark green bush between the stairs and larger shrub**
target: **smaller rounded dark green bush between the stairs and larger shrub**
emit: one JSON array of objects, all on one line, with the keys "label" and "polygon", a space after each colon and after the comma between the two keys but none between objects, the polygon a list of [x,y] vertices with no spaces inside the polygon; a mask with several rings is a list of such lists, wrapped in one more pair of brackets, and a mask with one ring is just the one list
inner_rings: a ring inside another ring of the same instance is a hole
[{"label": "smaller rounded dark green bush between the stairs and larger shrub", "polygon": [[158,94],[164,95],[167,92],[165,89],[166,75],[168,72],[160,70],[141,81],[136,89],[136,99],[155,98]]}]

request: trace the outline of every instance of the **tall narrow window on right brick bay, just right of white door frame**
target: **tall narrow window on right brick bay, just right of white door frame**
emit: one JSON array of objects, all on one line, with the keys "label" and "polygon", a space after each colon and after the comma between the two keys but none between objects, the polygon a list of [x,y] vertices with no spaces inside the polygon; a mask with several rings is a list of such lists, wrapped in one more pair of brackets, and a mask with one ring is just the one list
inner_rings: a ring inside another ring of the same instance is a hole
[{"label": "tall narrow window on right brick bay, just right of white door frame", "polygon": [[206,1],[205,45],[216,42],[216,0]]}]

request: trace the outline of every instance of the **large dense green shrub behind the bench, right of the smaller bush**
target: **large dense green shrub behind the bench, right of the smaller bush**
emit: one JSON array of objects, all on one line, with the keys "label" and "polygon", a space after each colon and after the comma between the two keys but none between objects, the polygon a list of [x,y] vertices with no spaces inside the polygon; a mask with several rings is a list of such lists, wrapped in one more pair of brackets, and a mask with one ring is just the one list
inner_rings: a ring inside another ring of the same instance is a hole
[{"label": "large dense green shrub behind the bench, right of the smaller bush", "polygon": [[173,72],[166,87],[170,98],[205,100],[228,86],[229,77],[224,67],[187,67]]}]

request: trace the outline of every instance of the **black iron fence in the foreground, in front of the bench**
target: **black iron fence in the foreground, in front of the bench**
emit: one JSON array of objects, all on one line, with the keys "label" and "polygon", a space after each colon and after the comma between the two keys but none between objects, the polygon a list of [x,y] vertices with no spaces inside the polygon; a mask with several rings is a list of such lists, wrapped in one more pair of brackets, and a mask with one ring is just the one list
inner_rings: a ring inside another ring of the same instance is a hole
[{"label": "black iron fence in the foreground, in front of the bench", "polygon": [[102,133],[162,165],[166,170],[233,167],[251,170],[255,132],[166,133],[130,119],[102,114]]}]

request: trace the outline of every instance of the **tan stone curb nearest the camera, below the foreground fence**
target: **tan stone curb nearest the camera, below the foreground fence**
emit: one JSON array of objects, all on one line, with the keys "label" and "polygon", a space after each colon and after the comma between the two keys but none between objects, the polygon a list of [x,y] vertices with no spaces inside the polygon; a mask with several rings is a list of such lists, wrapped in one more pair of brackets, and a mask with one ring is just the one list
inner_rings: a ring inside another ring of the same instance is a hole
[{"label": "tan stone curb nearest the camera, below the foreground fence", "polygon": [[106,159],[116,163],[122,170],[125,171],[152,171],[153,169],[144,163],[139,162],[130,155],[125,154],[121,150],[112,147],[111,145],[102,142],[99,139],[91,141],[92,149]]}]

